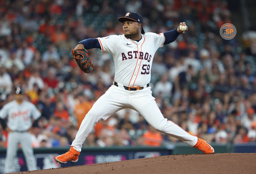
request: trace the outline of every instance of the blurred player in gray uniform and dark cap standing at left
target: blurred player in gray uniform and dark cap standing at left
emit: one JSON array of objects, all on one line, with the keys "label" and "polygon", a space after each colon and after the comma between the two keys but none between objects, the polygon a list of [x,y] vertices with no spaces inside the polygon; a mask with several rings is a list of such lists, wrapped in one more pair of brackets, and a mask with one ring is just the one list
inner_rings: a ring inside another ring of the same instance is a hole
[{"label": "blurred player in gray uniform and dark cap standing at left", "polygon": [[14,91],[15,100],[5,104],[0,110],[0,118],[7,117],[8,145],[6,152],[5,172],[14,171],[12,165],[17,155],[18,144],[22,146],[28,170],[37,170],[33,149],[31,146],[31,137],[28,133],[33,120],[37,120],[41,113],[30,102],[24,100],[24,89],[16,86]]}]

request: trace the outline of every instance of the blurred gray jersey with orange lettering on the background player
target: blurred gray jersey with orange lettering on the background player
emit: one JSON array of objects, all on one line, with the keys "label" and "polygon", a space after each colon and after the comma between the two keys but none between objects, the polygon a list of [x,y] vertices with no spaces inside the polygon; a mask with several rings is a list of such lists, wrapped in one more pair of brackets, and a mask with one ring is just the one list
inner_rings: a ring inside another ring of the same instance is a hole
[{"label": "blurred gray jersey with orange lettering on the background player", "polygon": [[31,117],[36,120],[41,116],[39,110],[28,101],[18,104],[15,100],[7,103],[0,110],[0,118],[8,117],[7,126],[12,131],[26,131],[32,126]]}]

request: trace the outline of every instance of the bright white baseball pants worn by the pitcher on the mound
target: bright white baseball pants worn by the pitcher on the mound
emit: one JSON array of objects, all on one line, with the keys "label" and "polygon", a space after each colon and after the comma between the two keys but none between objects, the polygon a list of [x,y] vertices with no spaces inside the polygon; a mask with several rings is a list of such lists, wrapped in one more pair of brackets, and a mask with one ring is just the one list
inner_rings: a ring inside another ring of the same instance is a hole
[{"label": "bright white baseball pants worn by the pitcher on the mound", "polygon": [[128,91],[120,84],[118,87],[112,85],[86,114],[72,142],[73,148],[81,152],[82,144],[97,122],[101,119],[108,119],[116,111],[124,108],[138,111],[159,132],[178,138],[190,146],[196,145],[197,137],[190,135],[172,121],[163,118],[150,89],[151,87],[146,87],[137,91]]}]

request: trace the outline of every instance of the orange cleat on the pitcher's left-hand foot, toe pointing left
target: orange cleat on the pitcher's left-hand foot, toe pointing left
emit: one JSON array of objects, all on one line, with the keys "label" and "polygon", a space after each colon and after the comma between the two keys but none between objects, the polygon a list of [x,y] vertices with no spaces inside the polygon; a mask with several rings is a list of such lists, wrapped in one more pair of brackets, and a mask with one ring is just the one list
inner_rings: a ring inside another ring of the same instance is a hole
[{"label": "orange cleat on the pitcher's left-hand foot, toe pointing left", "polygon": [[72,146],[70,147],[69,151],[65,154],[59,155],[55,158],[55,160],[61,164],[65,164],[66,162],[76,162],[78,161],[78,156],[80,152],[77,152]]}]

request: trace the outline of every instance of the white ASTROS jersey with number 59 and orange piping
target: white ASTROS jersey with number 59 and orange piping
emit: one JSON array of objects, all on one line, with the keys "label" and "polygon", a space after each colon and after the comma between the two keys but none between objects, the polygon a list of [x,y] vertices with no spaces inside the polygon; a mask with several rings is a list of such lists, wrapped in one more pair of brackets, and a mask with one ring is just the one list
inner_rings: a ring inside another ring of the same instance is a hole
[{"label": "white ASTROS jersey with number 59 and orange piping", "polygon": [[115,63],[115,82],[125,86],[145,86],[150,82],[155,52],[163,46],[163,33],[141,34],[137,42],[124,35],[98,38],[101,51],[112,54]]}]

